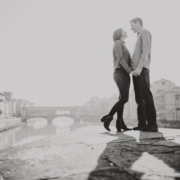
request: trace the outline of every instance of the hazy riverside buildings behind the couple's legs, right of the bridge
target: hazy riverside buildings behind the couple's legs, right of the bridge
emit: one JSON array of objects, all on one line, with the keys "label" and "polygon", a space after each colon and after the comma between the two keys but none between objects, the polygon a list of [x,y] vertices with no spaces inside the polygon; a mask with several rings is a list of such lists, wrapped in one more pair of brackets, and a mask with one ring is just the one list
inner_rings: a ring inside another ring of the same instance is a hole
[{"label": "hazy riverside buildings behind the couple's legs, right of the bridge", "polygon": [[[150,86],[156,108],[157,121],[180,121],[180,87],[166,79],[155,81]],[[112,106],[118,101],[119,94],[111,98],[93,97],[85,105],[98,106],[101,115],[109,113]],[[114,116],[116,118],[117,115]],[[123,118],[131,125],[137,125],[137,104],[134,90],[129,91],[129,101],[125,104]]]}]

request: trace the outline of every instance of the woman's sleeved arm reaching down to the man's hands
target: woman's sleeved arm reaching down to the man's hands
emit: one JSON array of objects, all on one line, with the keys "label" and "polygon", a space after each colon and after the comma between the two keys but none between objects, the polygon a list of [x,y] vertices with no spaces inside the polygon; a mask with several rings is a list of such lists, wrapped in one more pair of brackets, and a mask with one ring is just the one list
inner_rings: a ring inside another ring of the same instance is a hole
[{"label": "woman's sleeved arm reaching down to the man's hands", "polygon": [[131,67],[129,67],[128,63],[126,62],[126,60],[124,59],[123,56],[123,49],[122,49],[122,44],[120,41],[115,41],[114,43],[114,49],[116,52],[116,56],[119,60],[119,63],[122,65],[122,67],[126,70],[126,72],[129,74],[132,69]]}]

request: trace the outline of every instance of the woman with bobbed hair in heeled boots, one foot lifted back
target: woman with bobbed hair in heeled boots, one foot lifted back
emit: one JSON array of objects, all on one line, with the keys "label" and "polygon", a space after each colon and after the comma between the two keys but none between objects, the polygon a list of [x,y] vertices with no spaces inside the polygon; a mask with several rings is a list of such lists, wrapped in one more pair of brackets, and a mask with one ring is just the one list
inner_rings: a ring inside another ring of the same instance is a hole
[{"label": "woman with bobbed hair in heeled boots, one foot lifted back", "polygon": [[114,57],[114,81],[119,89],[119,101],[112,107],[108,115],[103,116],[101,121],[104,122],[104,127],[110,131],[109,125],[113,120],[114,114],[117,112],[116,128],[118,132],[121,129],[124,131],[131,130],[127,128],[123,120],[124,104],[129,99],[129,87],[130,87],[130,72],[131,68],[131,56],[128,49],[125,46],[124,39],[127,37],[126,32],[123,29],[117,29],[114,31],[113,40],[113,57]]}]

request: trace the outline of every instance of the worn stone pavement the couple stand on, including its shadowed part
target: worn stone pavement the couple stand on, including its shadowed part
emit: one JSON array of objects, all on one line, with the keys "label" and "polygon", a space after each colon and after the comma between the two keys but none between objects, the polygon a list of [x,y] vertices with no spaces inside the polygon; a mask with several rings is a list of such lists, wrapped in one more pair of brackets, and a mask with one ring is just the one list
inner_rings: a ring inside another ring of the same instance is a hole
[{"label": "worn stone pavement the couple stand on, including its shadowed part", "polygon": [[88,126],[0,151],[0,180],[180,179],[180,132]]}]

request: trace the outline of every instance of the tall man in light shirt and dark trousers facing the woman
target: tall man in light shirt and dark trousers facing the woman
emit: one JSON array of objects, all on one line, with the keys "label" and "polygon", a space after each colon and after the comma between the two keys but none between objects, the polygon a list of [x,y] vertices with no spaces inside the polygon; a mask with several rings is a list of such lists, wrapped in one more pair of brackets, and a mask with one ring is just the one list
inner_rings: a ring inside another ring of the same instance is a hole
[{"label": "tall man in light shirt and dark trousers facing the woman", "polygon": [[131,74],[135,99],[137,103],[138,126],[133,130],[157,132],[156,110],[153,96],[150,90],[150,62],[151,62],[151,34],[143,29],[143,22],[140,18],[130,21],[131,30],[138,34],[135,49],[132,55]]}]

